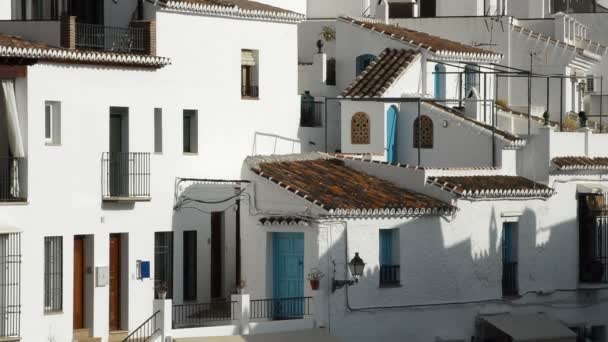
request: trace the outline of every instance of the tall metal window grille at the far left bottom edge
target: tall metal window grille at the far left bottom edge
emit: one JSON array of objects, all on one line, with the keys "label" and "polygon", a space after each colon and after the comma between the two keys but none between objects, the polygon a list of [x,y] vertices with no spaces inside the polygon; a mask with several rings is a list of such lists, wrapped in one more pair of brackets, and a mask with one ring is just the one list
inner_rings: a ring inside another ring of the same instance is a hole
[{"label": "tall metal window grille at the far left bottom edge", "polygon": [[21,329],[21,234],[0,234],[0,337]]}]

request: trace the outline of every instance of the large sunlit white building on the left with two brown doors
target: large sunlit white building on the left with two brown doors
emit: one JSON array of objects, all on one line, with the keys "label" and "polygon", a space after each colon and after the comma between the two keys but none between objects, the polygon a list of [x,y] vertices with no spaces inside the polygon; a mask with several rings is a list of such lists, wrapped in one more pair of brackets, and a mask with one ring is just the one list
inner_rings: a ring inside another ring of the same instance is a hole
[{"label": "large sunlit white building on the left with two brown doors", "polygon": [[172,208],[190,191],[180,179],[238,179],[249,154],[299,152],[302,16],[250,1],[7,2],[2,338],[122,340],[161,283],[177,303],[232,293],[236,212]]}]

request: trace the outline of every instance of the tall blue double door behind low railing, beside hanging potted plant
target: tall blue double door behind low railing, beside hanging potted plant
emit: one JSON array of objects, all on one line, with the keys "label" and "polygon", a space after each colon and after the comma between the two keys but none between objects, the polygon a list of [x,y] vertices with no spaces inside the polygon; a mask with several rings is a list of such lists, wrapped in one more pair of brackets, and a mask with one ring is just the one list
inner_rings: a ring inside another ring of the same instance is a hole
[{"label": "tall blue double door behind low railing, beside hanging potted plant", "polygon": [[304,313],[304,233],[273,233],[273,316]]}]

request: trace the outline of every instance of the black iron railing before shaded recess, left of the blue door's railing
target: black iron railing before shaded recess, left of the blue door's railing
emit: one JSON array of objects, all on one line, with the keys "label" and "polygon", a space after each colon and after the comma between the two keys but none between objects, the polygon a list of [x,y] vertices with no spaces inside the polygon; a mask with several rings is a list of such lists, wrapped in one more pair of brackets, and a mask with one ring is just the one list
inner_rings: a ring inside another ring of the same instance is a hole
[{"label": "black iron railing before shaded recess, left of the blue door's railing", "polygon": [[173,305],[173,329],[204,327],[213,322],[234,320],[236,302]]}]

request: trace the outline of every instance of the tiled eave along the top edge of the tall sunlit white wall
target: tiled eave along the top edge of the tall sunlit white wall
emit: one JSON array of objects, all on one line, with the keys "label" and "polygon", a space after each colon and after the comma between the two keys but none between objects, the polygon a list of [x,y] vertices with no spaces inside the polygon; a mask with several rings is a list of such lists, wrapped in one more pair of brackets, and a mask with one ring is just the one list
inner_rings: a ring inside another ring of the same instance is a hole
[{"label": "tiled eave along the top edge of the tall sunlit white wall", "polygon": [[299,22],[304,15],[249,0],[161,0],[164,7],[178,11],[238,18]]}]

